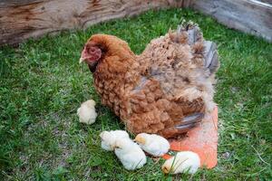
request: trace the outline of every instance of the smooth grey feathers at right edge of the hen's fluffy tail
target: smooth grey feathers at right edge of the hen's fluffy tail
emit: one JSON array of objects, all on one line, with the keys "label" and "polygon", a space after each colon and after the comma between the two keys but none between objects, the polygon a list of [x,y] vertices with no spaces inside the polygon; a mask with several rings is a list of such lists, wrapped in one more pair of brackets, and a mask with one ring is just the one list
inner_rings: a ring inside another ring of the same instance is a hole
[{"label": "smooth grey feathers at right edge of the hen's fluffy tail", "polygon": [[210,74],[213,74],[219,69],[219,53],[217,51],[217,45],[210,41],[204,41],[204,46],[204,67],[209,69]]}]

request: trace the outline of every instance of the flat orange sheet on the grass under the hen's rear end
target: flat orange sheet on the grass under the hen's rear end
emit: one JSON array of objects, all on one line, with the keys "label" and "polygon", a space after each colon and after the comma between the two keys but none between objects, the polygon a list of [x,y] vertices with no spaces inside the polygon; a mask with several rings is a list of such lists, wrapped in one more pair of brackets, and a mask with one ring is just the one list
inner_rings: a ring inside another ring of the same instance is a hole
[{"label": "flat orange sheet on the grass under the hen's rear end", "polygon": [[[218,163],[218,108],[190,130],[185,138],[170,141],[170,150],[193,151],[199,154],[201,167],[212,168]],[[164,155],[168,159],[170,155]]]}]

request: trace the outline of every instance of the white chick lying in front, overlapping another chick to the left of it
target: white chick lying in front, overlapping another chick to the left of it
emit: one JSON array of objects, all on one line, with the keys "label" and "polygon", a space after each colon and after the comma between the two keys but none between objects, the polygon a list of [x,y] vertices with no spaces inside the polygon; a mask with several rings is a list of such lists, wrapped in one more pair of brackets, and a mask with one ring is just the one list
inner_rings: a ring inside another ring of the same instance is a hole
[{"label": "white chick lying in front, overlapping another chick to the left of it", "polygon": [[128,170],[141,168],[146,163],[146,156],[137,143],[130,138],[118,139],[114,148],[115,155]]}]

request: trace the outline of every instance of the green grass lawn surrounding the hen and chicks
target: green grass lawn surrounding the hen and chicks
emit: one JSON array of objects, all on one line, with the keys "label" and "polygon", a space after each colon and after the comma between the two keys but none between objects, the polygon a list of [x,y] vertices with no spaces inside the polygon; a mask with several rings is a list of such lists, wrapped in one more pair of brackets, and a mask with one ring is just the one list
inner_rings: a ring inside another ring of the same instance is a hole
[{"label": "green grass lawn surrounding the hen and chicks", "polygon": [[[100,103],[92,126],[76,116],[84,100],[99,102],[91,72],[78,63],[83,44],[92,33],[111,33],[140,53],[151,39],[175,29],[181,17],[198,23],[219,47],[218,167],[194,177],[164,176],[163,161],[149,158],[145,167],[127,171],[100,148],[102,130],[124,128],[118,118]],[[0,177],[5,180],[272,179],[272,43],[209,16],[170,9],[4,47],[0,60]]]}]

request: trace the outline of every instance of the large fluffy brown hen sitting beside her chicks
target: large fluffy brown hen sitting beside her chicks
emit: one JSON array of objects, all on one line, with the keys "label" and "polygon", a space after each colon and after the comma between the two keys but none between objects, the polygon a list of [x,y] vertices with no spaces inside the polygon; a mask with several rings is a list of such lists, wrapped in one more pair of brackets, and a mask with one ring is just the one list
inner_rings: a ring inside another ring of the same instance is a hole
[{"label": "large fluffy brown hen sitting beside her chicks", "polygon": [[194,128],[215,105],[218,52],[197,25],[152,40],[140,55],[115,36],[94,34],[80,62],[89,65],[102,104],[135,134],[175,137]]}]

